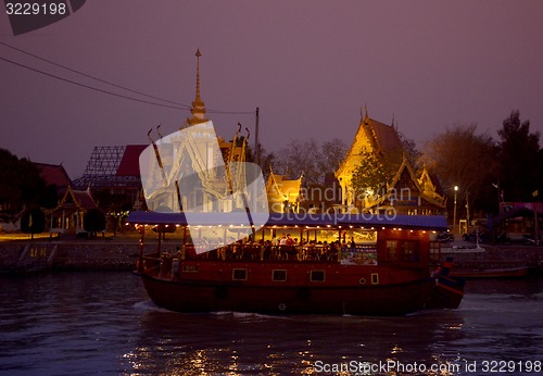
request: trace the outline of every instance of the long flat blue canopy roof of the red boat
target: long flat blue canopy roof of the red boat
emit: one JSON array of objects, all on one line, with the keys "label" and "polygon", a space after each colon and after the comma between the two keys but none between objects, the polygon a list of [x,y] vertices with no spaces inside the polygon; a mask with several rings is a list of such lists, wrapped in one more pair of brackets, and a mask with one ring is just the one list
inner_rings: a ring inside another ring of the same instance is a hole
[{"label": "long flat blue canopy roof of the red boat", "polygon": [[[427,230],[447,228],[446,218],[443,215],[251,213],[250,221],[265,223],[266,226],[368,226]],[[134,211],[129,213],[126,222],[140,225],[245,226],[248,214],[245,212],[160,213]]]}]

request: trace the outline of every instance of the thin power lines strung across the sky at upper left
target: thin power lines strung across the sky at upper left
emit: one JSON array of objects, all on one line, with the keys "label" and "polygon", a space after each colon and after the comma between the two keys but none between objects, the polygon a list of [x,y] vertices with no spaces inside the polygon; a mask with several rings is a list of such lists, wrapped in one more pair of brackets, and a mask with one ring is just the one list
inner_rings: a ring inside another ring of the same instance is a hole
[{"label": "thin power lines strung across the sky at upper left", "polygon": [[[87,78],[91,78],[91,79],[94,79],[94,80],[98,80],[102,84],[106,84],[106,85],[111,85],[113,87],[116,87],[116,88],[119,88],[119,89],[123,89],[123,90],[126,90],[126,91],[129,91],[129,92],[134,92],[134,93],[137,93],[137,95],[140,95],[140,96],[144,96],[144,97],[148,97],[148,98],[152,98],[152,99],[156,99],[156,100],[160,100],[160,101],[163,101],[163,102],[167,102],[167,103],[172,103],[172,104],[175,104],[175,105],[166,105],[166,104],[161,104],[161,103],[155,103],[155,102],[150,102],[150,101],[147,101],[147,100],[141,100],[141,99],[137,99],[137,98],[134,98],[134,97],[128,97],[128,96],[124,96],[124,95],[119,95],[119,93],[115,93],[115,92],[112,92],[112,91],[108,91],[108,90],[103,90],[103,89],[99,89],[99,88],[96,88],[96,87],[92,87],[92,86],[88,86],[88,85],[85,85],[85,84],[80,84],[80,83],[77,83],[77,82],[74,82],[74,80],[71,80],[71,79],[67,79],[67,78],[63,78],[63,77],[60,77],[60,76],[55,76],[53,74],[50,74],[50,73],[47,73],[47,72],[43,72],[43,71],[39,71],[37,68],[33,68],[30,66],[27,66],[27,65],[24,65],[24,64],[21,64],[21,63],[16,63],[14,61],[11,61],[11,60],[8,60],[8,59],[4,59],[4,58],[0,58],[1,60],[3,61],[7,61],[7,62],[10,62],[12,64],[15,64],[15,65],[18,65],[21,67],[25,67],[27,70],[30,70],[30,71],[34,71],[34,72],[37,72],[37,73],[41,73],[41,74],[45,74],[47,76],[50,76],[50,77],[53,77],[53,78],[56,78],[56,79],[61,79],[61,80],[64,80],[64,82],[67,82],[70,84],[73,84],[73,85],[78,85],[78,86],[81,86],[84,88],[88,88],[88,89],[91,89],[91,90],[96,90],[96,91],[100,91],[100,92],[103,92],[103,93],[109,93],[111,96],[115,96],[115,97],[119,97],[119,98],[124,98],[124,99],[128,99],[128,100],[134,100],[134,101],[138,101],[138,102],[142,102],[142,103],[147,103],[147,104],[153,104],[153,105],[159,105],[159,106],[165,106],[165,108],[169,108],[169,109],[177,109],[177,110],[185,110],[185,111],[190,111],[191,106],[190,105],[187,105],[187,104],[182,104],[182,103],[179,103],[179,102],[174,102],[174,101],[171,101],[171,100],[167,100],[167,99],[164,99],[164,98],[160,98],[160,97],[155,97],[155,96],[151,96],[151,95],[148,95],[148,93],[144,93],[144,92],[141,92],[141,91],[138,91],[138,90],[134,90],[134,89],[130,89],[130,88],[127,88],[125,86],[121,86],[121,85],[117,85],[117,84],[114,84],[114,83],[111,83],[109,80],[105,80],[105,79],[101,79],[101,78],[98,78],[98,77],[94,77],[92,75],[89,75],[89,74],[86,74],[86,73],[83,73],[83,72],[79,72],[77,70],[74,70],[74,68],[71,68],[68,66],[65,66],[63,64],[59,64],[59,63],[55,63],[53,61],[50,61],[48,59],[45,59],[45,58],[41,58],[41,57],[38,57],[34,53],[30,53],[30,52],[27,52],[27,51],[24,51],[22,49],[18,49],[16,47],[13,47],[11,45],[8,45],[8,43],[4,43],[2,41],[0,41],[0,45],[4,46],[4,47],[8,47],[8,48],[11,48],[17,52],[21,52],[21,53],[24,53],[24,54],[27,54],[29,57],[33,57],[35,59],[38,59],[38,60],[41,60],[41,61],[45,61],[49,64],[52,64],[52,65],[55,65],[55,66],[59,66],[63,70],[66,70],[66,71],[70,71],[70,72],[73,72],[73,73],[76,73],[76,74],[79,74],[84,77],[87,77]],[[207,113],[215,113],[215,114],[224,114],[224,115],[252,115],[254,114],[253,111],[223,111],[223,110],[213,110],[213,109],[209,109],[206,110]]]}]

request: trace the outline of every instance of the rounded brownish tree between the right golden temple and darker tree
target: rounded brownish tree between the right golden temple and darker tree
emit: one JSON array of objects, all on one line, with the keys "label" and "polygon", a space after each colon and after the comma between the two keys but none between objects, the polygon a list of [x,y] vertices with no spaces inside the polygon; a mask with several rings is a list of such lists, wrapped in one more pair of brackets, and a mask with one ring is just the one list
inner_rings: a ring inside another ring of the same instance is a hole
[{"label": "rounded brownish tree between the right golden temple and darker tree", "polygon": [[496,206],[495,196],[489,196],[498,172],[496,152],[492,137],[477,134],[476,124],[455,124],[426,141],[421,162],[438,176],[450,198],[458,186],[460,201],[467,197],[470,209],[489,211]]}]

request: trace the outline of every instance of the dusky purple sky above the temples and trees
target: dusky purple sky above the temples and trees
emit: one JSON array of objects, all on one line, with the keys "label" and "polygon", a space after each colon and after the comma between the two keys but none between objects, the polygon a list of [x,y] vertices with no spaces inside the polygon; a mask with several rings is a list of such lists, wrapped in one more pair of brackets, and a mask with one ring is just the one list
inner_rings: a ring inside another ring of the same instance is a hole
[{"label": "dusky purple sky above the temples and trees", "polygon": [[[512,110],[543,133],[543,1],[91,0],[72,16],[0,41],[101,79],[189,104],[200,48],[209,110],[261,109],[267,150],[290,139],[351,143],[361,106],[420,147],[455,123],[494,138]],[[0,57],[123,91],[0,45]],[[0,61],[0,148],[79,177],[94,146],[147,143],[187,111],[74,86]],[[155,100],[152,100],[155,101]],[[230,138],[254,115],[209,113]]]}]

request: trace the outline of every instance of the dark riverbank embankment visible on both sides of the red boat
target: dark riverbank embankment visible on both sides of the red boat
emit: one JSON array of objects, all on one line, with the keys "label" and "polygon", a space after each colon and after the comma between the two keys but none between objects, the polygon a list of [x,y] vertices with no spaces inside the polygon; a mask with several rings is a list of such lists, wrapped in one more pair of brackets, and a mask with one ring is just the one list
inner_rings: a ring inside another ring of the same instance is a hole
[{"label": "dark riverbank embankment visible on both sides of the red boat", "polygon": [[[0,241],[0,273],[37,271],[131,271],[139,255],[139,235],[98,237],[94,239],[7,239]],[[157,237],[146,237],[144,253],[156,249]],[[175,253],[179,239],[163,240],[162,249]],[[540,272],[543,247],[490,246],[477,248],[470,243],[443,245],[433,258],[452,256],[455,268],[529,267]]]}]

